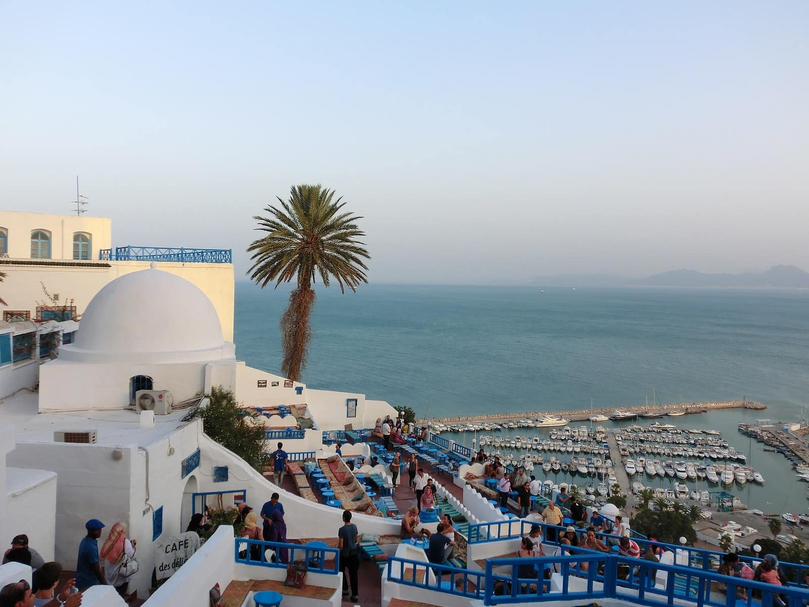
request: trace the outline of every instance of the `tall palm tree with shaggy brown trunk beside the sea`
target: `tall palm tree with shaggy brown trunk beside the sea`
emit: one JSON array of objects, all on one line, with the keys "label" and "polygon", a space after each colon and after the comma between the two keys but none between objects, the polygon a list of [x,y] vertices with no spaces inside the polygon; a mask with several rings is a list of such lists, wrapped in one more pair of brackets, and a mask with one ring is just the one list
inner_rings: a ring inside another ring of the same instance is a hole
[{"label": "tall palm tree with shaggy brown trunk beside the sea", "polygon": [[267,232],[248,247],[253,265],[250,278],[266,287],[275,282],[297,281],[290,293],[290,304],[281,317],[284,359],[282,371],[293,381],[300,379],[311,340],[309,318],[315,304],[312,285],[320,276],[324,287],[330,279],[357,291],[368,282],[363,260],[371,259],[360,240],[365,232],[357,226],[358,215],[340,212],[345,202],[334,200],[334,191],[322,185],[294,185],[281,206],[267,206],[266,217],[256,215],[256,230]]}]

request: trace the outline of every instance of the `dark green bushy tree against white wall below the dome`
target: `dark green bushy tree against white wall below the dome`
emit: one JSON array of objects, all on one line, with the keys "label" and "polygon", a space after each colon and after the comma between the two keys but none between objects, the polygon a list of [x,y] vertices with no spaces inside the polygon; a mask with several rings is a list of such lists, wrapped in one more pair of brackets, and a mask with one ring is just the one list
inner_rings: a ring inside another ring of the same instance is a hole
[{"label": "dark green bushy tree against white wall below the dome", "polygon": [[206,435],[261,472],[269,455],[265,451],[264,427],[248,423],[251,414],[239,407],[230,390],[212,388],[208,397],[208,405],[192,410],[185,419],[202,418]]}]

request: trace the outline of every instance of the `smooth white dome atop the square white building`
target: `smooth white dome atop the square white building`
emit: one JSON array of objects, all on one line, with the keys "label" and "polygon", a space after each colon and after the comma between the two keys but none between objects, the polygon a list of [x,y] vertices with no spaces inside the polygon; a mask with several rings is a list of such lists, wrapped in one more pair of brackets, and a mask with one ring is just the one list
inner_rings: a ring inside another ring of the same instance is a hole
[{"label": "smooth white dome atop the square white building", "polygon": [[87,305],[68,360],[164,363],[234,358],[214,304],[176,274],[141,270],[116,278]]}]

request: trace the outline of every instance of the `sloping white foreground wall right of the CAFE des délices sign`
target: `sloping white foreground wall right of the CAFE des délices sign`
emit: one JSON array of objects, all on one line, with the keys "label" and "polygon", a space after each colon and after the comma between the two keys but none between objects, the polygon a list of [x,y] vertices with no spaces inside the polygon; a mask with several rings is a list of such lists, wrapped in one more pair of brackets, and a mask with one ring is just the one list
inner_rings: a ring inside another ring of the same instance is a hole
[{"label": "sloping white foreground wall right of the CAFE des d\u00e9lices sign", "polygon": [[233,528],[222,526],[150,596],[149,607],[210,605],[208,592],[219,584],[224,593],[234,579]]}]

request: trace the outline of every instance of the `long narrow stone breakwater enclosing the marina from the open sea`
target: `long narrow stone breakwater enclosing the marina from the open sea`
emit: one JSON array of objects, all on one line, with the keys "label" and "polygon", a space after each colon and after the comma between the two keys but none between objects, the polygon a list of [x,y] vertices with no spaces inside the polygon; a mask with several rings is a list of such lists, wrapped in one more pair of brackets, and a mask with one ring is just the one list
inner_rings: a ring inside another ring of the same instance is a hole
[{"label": "long narrow stone breakwater enclosing the marina from the open sea", "polygon": [[[666,414],[670,411],[684,411],[686,414],[705,413],[708,410],[717,409],[753,409],[763,410],[767,405],[755,401],[714,401],[714,402],[680,402],[671,403],[667,405],[643,405],[638,407],[621,407],[622,411],[629,411],[631,413],[646,413],[657,412]],[[430,419],[417,419],[416,423],[426,422],[441,422],[441,423],[458,423],[458,422],[501,422],[515,419],[536,419],[543,415],[556,415],[570,419],[571,422],[580,422],[587,420],[592,415],[609,415],[616,410],[616,407],[608,407],[603,409],[586,409],[577,411],[532,411],[527,413],[499,413],[499,414],[484,414],[484,415],[464,415],[452,418],[430,418]]]}]

